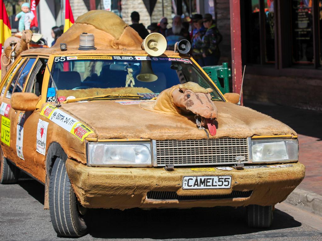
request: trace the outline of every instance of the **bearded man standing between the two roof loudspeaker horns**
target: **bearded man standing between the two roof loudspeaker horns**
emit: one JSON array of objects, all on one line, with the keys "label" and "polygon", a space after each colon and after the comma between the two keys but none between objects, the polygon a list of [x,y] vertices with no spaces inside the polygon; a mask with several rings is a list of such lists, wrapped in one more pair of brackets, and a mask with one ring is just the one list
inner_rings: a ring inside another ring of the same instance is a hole
[{"label": "bearded man standing between the two roof loudspeaker horns", "polygon": [[182,26],[181,17],[176,15],[172,20],[172,28],[166,30],[168,50],[174,50],[175,43],[180,40],[189,40],[189,32]]}]

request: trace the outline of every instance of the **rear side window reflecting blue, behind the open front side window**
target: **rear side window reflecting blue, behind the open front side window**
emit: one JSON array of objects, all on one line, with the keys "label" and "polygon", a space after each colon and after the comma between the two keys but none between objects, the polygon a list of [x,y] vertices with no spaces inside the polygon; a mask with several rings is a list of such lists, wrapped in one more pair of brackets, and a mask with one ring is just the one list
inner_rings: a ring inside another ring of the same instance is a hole
[{"label": "rear side window reflecting blue, behind the open front side window", "polygon": [[[24,82],[28,76],[30,68],[33,66],[35,62],[35,58],[27,58],[24,64],[19,68],[19,70],[14,75],[14,78],[11,81],[9,90],[7,91],[5,97],[11,98],[12,93],[19,92],[19,90],[23,89]],[[15,86],[18,85],[17,91],[15,90]],[[21,91],[20,91],[21,92]]]}]

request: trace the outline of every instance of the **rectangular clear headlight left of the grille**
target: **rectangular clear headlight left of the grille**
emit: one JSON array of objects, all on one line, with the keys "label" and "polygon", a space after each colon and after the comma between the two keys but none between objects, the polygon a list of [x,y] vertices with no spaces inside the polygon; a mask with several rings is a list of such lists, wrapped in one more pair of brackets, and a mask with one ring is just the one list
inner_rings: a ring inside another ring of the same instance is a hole
[{"label": "rectangular clear headlight left of the grille", "polygon": [[151,142],[89,142],[89,166],[151,166]]}]

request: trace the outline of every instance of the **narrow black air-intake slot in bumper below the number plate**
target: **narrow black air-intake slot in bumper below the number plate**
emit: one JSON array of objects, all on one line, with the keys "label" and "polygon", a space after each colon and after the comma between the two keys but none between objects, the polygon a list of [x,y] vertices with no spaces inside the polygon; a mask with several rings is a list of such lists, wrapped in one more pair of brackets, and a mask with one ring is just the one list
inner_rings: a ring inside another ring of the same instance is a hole
[{"label": "narrow black air-intake slot in bumper below the number plate", "polygon": [[203,195],[203,196],[179,196],[176,192],[167,191],[150,191],[147,192],[147,199],[150,200],[209,200],[209,199],[232,199],[232,198],[248,198],[253,191],[232,191],[230,194],[224,195]]}]

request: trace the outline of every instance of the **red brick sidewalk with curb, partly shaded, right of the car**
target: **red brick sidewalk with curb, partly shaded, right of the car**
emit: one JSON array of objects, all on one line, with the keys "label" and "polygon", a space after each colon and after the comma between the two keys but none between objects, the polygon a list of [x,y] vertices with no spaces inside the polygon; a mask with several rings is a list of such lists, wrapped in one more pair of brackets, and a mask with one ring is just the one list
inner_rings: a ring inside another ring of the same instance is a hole
[{"label": "red brick sidewalk with curb, partly shaded, right of the car", "polygon": [[247,100],[244,105],[282,121],[298,133],[298,159],[305,165],[306,174],[286,201],[322,216],[322,112]]}]

